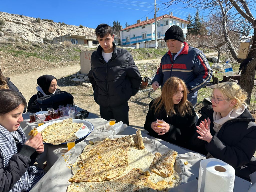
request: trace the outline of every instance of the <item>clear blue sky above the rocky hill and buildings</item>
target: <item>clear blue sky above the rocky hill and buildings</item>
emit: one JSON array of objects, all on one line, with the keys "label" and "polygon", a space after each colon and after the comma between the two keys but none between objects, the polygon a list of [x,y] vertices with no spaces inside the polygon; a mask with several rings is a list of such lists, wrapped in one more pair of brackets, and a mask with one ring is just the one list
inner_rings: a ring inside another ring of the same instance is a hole
[{"label": "clear blue sky above the rocky hill and buildings", "polygon": [[[173,12],[173,16],[187,19],[188,13],[195,16],[195,8],[183,8],[182,3],[172,5],[168,8],[163,4],[168,0],[157,0],[159,11],[157,16]],[[145,20],[154,18],[154,0],[2,0],[0,11],[25,15],[29,17],[40,17],[41,19],[52,19],[54,22],[64,22],[69,25],[80,24],[86,27],[96,28],[100,23],[108,25],[113,21],[119,21],[125,27],[136,23],[138,19]],[[255,16],[255,10],[252,11]],[[208,15],[207,11],[200,12],[200,17]]]}]

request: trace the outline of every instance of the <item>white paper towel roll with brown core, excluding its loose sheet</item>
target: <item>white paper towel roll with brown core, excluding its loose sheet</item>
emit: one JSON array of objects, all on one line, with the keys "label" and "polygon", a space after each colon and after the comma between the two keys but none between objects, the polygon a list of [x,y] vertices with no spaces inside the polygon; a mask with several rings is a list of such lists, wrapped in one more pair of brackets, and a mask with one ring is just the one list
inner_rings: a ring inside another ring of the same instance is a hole
[{"label": "white paper towel roll with brown core, excluding its loose sheet", "polygon": [[235,170],[227,163],[212,161],[206,166],[205,191],[233,192]]}]

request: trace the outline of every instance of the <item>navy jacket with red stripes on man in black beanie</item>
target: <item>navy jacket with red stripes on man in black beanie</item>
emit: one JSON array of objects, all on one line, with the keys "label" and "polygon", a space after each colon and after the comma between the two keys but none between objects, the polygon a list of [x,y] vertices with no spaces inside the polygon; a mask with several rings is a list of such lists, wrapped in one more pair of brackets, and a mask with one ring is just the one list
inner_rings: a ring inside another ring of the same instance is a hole
[{"label": "navy jacket with red stripes on man in black beanie", "polygon": [[190,47],[184,42],[183,50],[174,62],[171,52],[166,52],[152,82],[157,81],[159,86],[163,87],[165,81],[172,76],[185,81],[189,90],[188,101],[195,105],[197,91],[210,81],[212,69],[201,50]]}]

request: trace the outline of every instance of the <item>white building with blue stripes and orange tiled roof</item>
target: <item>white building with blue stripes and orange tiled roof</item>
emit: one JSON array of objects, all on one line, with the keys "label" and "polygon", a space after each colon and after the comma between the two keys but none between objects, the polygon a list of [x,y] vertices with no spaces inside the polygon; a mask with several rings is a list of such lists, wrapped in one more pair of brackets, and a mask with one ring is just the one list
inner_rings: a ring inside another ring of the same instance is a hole
[{"label": "white building with blue stripes and orange tiled roof", "polygon": [[[184,32],[184,37],[187,34],[187,20],[180,19],[171,15],[162,15],[156,17],[156,33],[157,41],[164,39],[166,30],[172,25],[178,25]],[[137,20],[137,23],[130,25],[120,31],[121,46],[136,47],[139,43],[139,48],[155,47],[155,19],[147,19],[145,21]],[[159,42],[158,42],[159,47]]]}]

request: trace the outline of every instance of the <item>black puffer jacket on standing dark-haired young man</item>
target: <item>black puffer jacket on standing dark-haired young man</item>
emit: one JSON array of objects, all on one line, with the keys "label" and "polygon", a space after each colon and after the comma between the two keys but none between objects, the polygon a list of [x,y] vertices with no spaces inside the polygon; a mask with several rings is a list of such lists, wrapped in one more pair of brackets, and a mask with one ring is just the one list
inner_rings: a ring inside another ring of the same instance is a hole
[{"label": "black puffer jacket on standing dark-haired young man", "polygon": [[101,46],[91,56],[88,78],[94,100],[102,107],[116,107],[127,102],[138,92],[142,79],[129,51],[117,48],[114,43],[113,47],[108,63],[102,57]]}]

